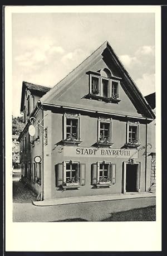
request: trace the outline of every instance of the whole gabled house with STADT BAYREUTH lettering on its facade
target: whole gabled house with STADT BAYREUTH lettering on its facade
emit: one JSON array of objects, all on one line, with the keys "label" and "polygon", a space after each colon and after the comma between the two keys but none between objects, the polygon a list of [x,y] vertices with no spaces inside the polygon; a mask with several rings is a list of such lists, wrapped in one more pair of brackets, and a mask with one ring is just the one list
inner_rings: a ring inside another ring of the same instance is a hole
[{"label": "whole gabled house with STADT BAYREUTH lettering on its facade", "polygon": [[23,81],[21,112],[22,181],[38,199],[149,191],[155,115],[108,42],[52,89]]}]

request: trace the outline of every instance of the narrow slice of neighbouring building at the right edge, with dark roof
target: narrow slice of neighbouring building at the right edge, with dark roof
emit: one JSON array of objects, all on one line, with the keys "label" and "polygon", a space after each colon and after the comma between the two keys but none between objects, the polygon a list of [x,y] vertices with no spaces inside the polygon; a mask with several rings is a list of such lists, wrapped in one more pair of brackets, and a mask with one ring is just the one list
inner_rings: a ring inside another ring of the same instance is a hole
[{"label": "narrow slice of neighbouring building at the right edge, with dark roof", "polygon": [[[151,93],[147,96],[145,96],[146,101],[149,103],[150,107],[153,109],[153,112],[155,114],[155,93]],[[151,157],[150,159],[150,169],[151,169],[151,181],[150,181],[150,191],[155,192],[156,191],[156,150],[155,150],[155,122],[156,120],[154,119],[153,122],[149,124],[149,134],[151,134],[151,138],[149,138],[151,142],[151,148],[149,151],[149,156]]]}]

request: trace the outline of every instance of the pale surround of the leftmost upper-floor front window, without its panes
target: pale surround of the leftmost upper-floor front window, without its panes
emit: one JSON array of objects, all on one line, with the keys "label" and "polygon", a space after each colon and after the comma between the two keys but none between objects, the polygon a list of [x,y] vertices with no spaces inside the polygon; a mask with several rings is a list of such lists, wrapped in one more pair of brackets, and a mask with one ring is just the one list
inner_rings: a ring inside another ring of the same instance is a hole
[{"label": "pale surround of the leftmost upper-floor front window, without its panes", "polygon": [[81,115],[80,114],[74,114],[74,113],[64,113],[63,114],[63,140],[65,141],[67,139],[67,119],[77,119],[77,140],[80,141],[81,139]]}]

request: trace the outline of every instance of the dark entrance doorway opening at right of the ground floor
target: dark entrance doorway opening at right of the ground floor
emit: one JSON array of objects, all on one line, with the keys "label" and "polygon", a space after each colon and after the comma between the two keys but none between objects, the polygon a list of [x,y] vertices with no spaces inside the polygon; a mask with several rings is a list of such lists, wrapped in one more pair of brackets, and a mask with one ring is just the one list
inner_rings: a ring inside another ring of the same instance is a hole
[{"label": "dark entrance doorway opening at right of the ground floor", "polygon": [[126,192],[137,191],[137,165],[126,165]]}]

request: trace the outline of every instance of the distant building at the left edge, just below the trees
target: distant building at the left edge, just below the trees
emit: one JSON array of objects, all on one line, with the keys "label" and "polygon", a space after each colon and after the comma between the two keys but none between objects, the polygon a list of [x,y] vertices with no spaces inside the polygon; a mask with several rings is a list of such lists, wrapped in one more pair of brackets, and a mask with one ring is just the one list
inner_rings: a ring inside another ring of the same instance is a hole
[{"label": "distant building at the left edge, just below the trees", "polygon": [[12,166],[13,168],[20,168],[19,166],[19,142],[18,135],[12,135]]}]

